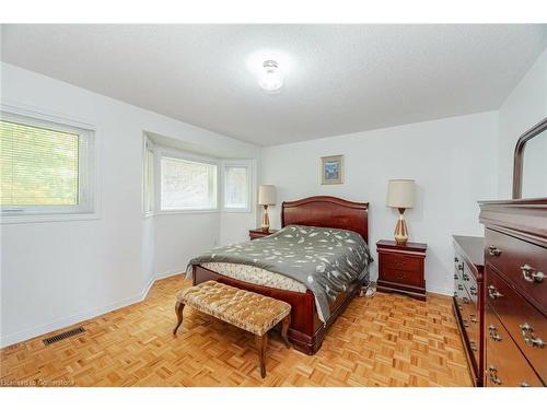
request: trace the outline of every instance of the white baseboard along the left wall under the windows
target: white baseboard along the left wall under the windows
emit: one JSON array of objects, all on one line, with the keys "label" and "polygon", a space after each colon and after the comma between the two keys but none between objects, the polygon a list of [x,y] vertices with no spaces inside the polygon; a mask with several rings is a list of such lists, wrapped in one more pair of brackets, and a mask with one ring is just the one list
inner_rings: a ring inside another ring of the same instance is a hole
[{"label": "white baseboard along the left wall under the windows", "polygon": [[97,307],[97,308],[94,308],[94,309],[91,309],[88,312],[83,312],[83,313],[80,313],[78,315],[69,316],[69,317],[66,317],[63,319],[55,320],[55,321],[51,321],[47,325],[40,325],[40,326],[36,326],[36,327],[33,327],[30,329],[21,330],[21,331],[11,333],[11,335],[5,335],[5,336],[0,338],[0,348],[5,348],[5,347],[11,345],[11,344],[15,344],[15,343],[28,340],[28,339],[33,339],[37,336],[49,333],[50,331],[62,329],[65,327],[75,325],[80,321],[89,320],[89,319],[92,319],[96,316],[104,315],[108,312],[116,311],[116,309],[119,309],[121,307],[132,305],[133,303],[142,302],[147,297],[148,292],[150,291],[150,289],[152,288],[152,285],[154,284],[155,281],[158,281],[160,279],[173,277],[175,274],[183,274],[183,272],[177,270],[177,271],[168,271],[168,272],[158,273],[158,274],[153,276],[150,279],[150,281],[147,283],[144,289],[139,294],[137,294],[135,296],[126,297],[121,301],[110,303],[108,305],[101,306],[101,307]]}]

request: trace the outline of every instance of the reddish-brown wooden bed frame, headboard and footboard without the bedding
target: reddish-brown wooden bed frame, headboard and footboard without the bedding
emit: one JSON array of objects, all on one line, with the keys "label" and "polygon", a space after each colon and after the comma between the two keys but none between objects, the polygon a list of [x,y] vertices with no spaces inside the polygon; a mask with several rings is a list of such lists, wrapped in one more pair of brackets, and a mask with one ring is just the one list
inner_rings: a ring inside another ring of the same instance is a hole
[{"label": "reddish-brown wooden bed frame, headboard and footboard without the bedding", "polygon": [[[347,230],[359,234],[368,244],[368,212],[369,203],[351,202],[327,196],[310,197],[282,203],[281,227],[303,225]],[[194,265],[191,267],[191,276],[194,284],[216,280],[289,303],[292,307],[289,339],[298,350],[306,354],[314,354],[318,351],[327,329],[359,293],[363,282],[363,278],[354,280],[347,286],[345,292],[339,293],[336,300],[329,303],[328,318],[322,321],[317,312],[316,297],[310,290],[304,292],[302,290],[276,289],[251,283],[219,273],[201,265]]]}]

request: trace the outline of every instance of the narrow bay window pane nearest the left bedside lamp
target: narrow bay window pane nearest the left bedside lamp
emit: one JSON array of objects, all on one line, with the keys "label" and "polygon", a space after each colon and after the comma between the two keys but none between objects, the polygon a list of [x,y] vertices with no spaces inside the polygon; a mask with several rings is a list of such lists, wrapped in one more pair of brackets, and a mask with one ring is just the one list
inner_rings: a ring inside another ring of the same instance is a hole
[{"label": "narrow bay window pane nearest the left bedside lamp", "polygon": [[224,165],[224,209],[251,209],[251,166],[247,164]]}]

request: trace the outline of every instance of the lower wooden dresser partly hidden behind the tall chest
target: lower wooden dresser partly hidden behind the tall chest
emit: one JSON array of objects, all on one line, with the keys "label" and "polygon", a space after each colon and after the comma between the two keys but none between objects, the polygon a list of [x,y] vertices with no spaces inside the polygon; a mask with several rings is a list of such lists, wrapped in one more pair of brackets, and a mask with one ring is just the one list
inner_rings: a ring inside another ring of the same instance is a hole
[{"label": "lower wooden dresser partly hidden behind the tall chest", "polygon": [[482,386],[485,239],[454,238],[454,314],[475,386]]}]

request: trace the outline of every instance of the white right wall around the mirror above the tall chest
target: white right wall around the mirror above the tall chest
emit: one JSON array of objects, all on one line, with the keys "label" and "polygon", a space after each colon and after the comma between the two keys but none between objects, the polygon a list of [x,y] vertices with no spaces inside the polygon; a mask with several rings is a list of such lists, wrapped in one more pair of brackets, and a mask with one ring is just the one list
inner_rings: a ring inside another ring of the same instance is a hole
[{"label": "white right wall around the mirror above the tall chest", "polygon": [[[547,117],[547,49],[514,87],[500,108],[498,196],[510,199],[516,140]],[[544,161],[545,160],[544,156]]]}]

